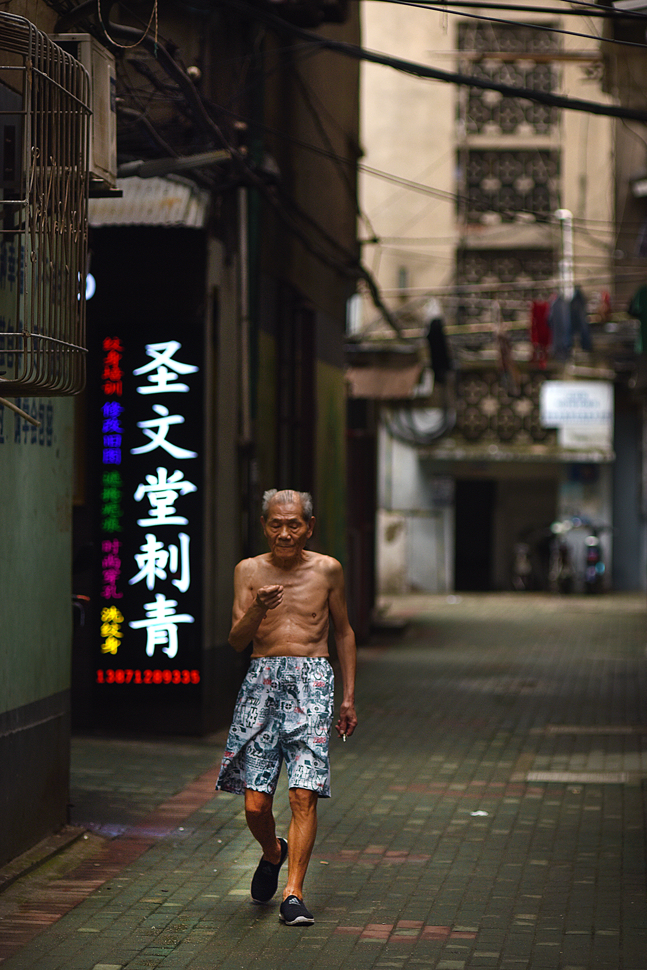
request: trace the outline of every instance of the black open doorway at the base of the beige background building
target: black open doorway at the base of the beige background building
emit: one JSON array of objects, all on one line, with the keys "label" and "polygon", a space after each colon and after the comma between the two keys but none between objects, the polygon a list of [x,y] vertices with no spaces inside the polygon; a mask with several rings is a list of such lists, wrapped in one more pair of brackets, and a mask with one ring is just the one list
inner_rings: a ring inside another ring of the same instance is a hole
[{"label": "black open doorway at the base of the beige background building", "polygon": [[492,583],[492,533],[496,482],[490,478],[456,481],[454,585],[457,590],[486,592]]}]

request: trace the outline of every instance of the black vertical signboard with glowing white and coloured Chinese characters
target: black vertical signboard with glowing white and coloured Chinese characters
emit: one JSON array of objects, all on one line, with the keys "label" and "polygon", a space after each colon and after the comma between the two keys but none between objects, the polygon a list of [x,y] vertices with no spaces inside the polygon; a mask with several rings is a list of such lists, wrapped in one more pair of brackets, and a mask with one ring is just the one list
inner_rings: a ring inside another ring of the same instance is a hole
[{"label": "black vertical signboard with glowing white and coloured Chinese characters", "polygon": [[155,312],[133,325],[132,309],[96,313],[90,378],[100,558],[93,678],[104,712],[200,703],[203,328]]}]

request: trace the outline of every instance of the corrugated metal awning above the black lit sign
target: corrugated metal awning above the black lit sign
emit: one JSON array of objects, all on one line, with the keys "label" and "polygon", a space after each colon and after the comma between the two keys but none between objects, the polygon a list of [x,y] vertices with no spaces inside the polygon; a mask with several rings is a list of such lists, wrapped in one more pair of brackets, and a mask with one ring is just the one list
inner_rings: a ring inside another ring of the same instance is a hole
[{"label": "corrugated metal awning above the black lit sign", "polygon": [[90,226],[184,226],[202,229],[209,193],[188,178],[117,178],[120,199],[90,199]]}]

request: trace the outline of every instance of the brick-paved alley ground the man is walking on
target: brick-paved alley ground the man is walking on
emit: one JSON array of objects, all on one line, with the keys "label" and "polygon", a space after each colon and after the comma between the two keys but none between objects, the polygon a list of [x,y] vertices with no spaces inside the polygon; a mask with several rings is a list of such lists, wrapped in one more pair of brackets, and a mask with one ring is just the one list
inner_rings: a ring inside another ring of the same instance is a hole
[{"label": "brick-paved alley ground the man is walking on", "polygon": [[[644,970],[643,598],[385,606],[410,622],[360,650],[314,926],[250,903],[259,851],[212,791],[216,744],[80,739],[90,829],[0,895],[3,970]],[[276,804],[281,833],[284,779]]]}]

